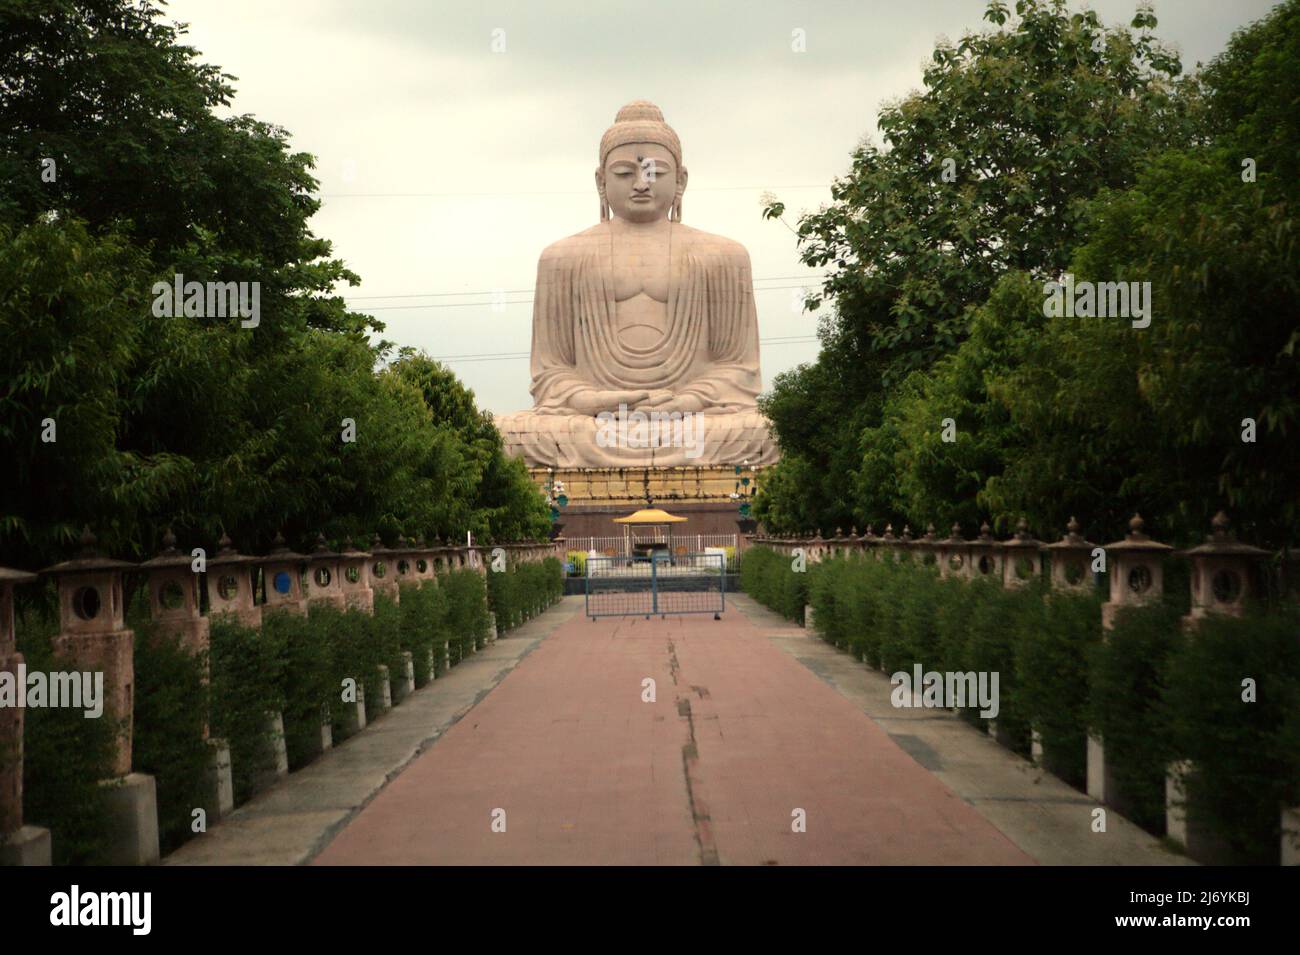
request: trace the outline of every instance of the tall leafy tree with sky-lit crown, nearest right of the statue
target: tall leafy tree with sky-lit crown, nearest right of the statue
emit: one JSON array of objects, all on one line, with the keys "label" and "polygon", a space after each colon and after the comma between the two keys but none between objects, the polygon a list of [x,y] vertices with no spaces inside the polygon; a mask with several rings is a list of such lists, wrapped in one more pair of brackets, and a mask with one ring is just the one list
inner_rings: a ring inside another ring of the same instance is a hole
[{"label": "tall leafy tree with sky-lit crown, nearest right of the statue", "polygon": [[[838,521],[867,516],[842,452],[861,457],[884,388],[952,352],[1000,275],[1063,270],[1082,200],[1130,185],[1144,155],[1197,129],[1197,99],[1178,95],[1178,57],[1148,9],[1128,30],[1063,0],[1019,0],[1015,17],[994,0],[984,16],[998,29],[936,47],[924,91],[881,110],[884,148],[861,146],[831,205],[798,225],[802,261],[831,269],[810,307],[835,312],[816,365],[779,379],[764,407],[783,455],[809,456],[820,476],[806,492]],[[788,413],[802,404],[789,392],[827,378],[841,386],[823,391],[816,425]]]}]

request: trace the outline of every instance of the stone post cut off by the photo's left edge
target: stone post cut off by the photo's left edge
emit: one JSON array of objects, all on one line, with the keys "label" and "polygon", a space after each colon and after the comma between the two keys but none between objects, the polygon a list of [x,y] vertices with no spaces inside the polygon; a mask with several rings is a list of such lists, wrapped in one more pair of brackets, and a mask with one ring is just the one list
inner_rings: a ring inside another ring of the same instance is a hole
[{"label": "stone post cut off by the photo's left edge", "polygon": [[[17,694],[26,680],[18,652],[13,615],[13,589],[36,574],[0,567],[0,681],[12,681]],[[49,830],[23,825],[22,725],[23,708],[0,707],[0,865],[49,865]]]}]

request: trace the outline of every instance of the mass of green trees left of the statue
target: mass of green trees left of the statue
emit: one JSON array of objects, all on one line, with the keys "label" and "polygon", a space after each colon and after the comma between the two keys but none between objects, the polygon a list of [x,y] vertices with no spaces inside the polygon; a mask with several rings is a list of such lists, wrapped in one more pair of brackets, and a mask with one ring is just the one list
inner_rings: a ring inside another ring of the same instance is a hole
[{"label": "mass of green trees left of the statue", "polygon": [[[537,535],[473,392],[348,311],[313,160],[153,3],[0,4],[0,563],[229,533]],[[47,161],[52,160],[52,162]],[[260,320],[157,317],[155,282],[257,282]]]}]

